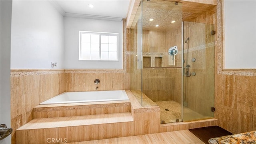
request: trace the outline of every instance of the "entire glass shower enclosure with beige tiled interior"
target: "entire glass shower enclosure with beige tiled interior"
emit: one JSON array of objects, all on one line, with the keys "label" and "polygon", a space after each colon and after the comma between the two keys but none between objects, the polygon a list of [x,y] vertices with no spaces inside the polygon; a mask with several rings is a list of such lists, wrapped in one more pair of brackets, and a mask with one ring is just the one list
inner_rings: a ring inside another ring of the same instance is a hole
[{"label": "entire glass shower enclosure with beige tiled interior", "polygon": [[212,118],[214,25],[185,22],[182,3],[141,1],[130,34],[130,89],[160,123]]}]

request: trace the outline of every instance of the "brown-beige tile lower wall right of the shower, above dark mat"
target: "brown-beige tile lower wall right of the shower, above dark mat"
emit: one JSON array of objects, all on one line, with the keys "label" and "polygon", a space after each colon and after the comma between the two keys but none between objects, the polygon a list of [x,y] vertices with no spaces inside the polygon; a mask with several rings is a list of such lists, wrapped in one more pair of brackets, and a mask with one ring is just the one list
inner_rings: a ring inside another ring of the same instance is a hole
[{"label": "brown-beige tile lower wall right of the shower, above dark mat", "polygon": [[218,74],[218,125],[232,133],[256,130],[256,76]]}]

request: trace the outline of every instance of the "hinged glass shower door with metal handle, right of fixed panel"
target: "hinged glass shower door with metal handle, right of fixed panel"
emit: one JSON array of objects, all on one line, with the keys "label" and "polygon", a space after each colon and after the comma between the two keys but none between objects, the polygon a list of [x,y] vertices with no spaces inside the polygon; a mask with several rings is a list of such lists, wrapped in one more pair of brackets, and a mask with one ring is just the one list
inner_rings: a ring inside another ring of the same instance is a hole
[{"label": "hinged glass shower door with metal handle, right of fixed panel", "polygon": [[213,24],[183,22],[183,121],[213,118]]}]

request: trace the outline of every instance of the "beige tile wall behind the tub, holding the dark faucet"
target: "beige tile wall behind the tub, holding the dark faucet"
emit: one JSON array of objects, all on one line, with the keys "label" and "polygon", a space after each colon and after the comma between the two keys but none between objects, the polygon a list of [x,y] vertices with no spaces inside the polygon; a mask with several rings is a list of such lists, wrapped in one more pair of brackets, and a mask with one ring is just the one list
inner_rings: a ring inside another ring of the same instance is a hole
[{"label": "beige tile wall behind the tub, holding the dark faucet", "polygon": [[[98,90],[129,90],[130,75],[118,70],[65,70],[66,92],[94,91]],[[94,84],[95,79],[100,80],[100,84]]]}]

